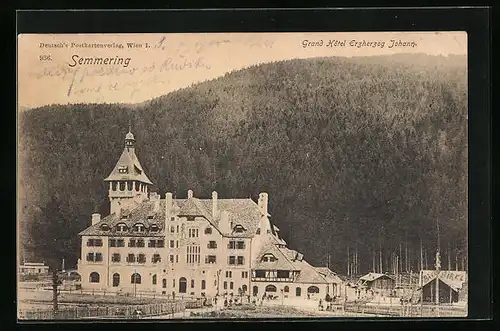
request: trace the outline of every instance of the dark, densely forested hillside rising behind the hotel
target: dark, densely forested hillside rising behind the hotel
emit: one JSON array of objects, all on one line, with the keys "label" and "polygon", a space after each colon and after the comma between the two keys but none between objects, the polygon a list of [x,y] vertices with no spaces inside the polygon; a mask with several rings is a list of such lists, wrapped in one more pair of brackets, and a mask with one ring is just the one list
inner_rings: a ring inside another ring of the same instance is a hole
[{"label": "dark, densely forested hillside rising behind the hotel", "polygon": [[[77,233],[108,212],[103,179],[129,120],[137,154],[164,195],[253,197],[290,246],[345,272],[357,243],[372,251],[420,240],[466,249],[465,57],[317,58],[262,64],[153,99],[24,111],[20,132],[21,243],[27,259],[76,263]],[[384,262],[384,265],[387,265]]]}]

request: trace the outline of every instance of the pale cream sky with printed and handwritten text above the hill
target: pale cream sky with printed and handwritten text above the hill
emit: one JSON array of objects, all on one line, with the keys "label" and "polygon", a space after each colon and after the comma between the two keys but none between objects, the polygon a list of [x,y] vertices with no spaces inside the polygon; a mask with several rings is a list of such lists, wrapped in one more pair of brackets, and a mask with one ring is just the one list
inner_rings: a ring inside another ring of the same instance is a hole
[{"label": "pale cream sky with printed and handwritten text above the hill", "polygon": [[[466,55],[467,34],[23,34],[18,36],[18,109],[140,103],[260,63],[395,53]],[[105,58],[107,64],[93,63]]]}]

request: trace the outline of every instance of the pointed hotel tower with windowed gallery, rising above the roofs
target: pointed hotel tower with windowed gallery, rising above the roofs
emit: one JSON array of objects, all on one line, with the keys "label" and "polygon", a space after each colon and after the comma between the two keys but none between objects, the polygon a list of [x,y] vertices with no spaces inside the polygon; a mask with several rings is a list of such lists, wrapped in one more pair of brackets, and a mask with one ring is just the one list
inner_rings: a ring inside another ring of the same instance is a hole
[{"label": "pointed hotel tower with windowed gallery, rising above the roofs", "polygon": [[133,208],[148,199],[153,183],[135,155],[135,138],[132,132],[125,135],[125,147],[111,174],[104,179],[108,183],[110,213],[120,214],[124,208]]}]

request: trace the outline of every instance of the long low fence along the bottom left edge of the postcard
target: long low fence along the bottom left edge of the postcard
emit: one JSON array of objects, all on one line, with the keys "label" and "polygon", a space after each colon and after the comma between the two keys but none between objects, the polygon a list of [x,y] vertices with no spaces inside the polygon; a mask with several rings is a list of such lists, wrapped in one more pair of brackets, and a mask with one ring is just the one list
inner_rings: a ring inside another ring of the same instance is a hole
[{"label": "long low fence along the bottom left edge of the postcard", "polygon": [[[59,309],[54,314],[52,309],[38,309],[31,311],[21,311],[19,319],[21,320],[71,320],[85,318],[137,318],[139,316],[166,315],[183,312],[185,303],[155,303],[147,305],[135,305],[125,307],[74,307]],[[139,312],[139,313],[138,313]]]}]

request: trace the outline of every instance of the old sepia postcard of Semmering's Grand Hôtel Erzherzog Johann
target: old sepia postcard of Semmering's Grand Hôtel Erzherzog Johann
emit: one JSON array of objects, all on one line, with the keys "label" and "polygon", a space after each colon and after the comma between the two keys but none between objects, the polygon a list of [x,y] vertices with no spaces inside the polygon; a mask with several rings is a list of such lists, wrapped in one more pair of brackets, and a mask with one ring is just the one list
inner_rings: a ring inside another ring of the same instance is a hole
[{"label": "old sepia postcard of Semmering's Grand H\u00f4tel Erzherzog Johann", "polygon": [[18,319],[465,317],[465,32],[20,34]]}]

